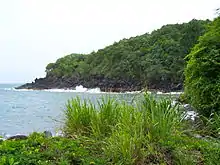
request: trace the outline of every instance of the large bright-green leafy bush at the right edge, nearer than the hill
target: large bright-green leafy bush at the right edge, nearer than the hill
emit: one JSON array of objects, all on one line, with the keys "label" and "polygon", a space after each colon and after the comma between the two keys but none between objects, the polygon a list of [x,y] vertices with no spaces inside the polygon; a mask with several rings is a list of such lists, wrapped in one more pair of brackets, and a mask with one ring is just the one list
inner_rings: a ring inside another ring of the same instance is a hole
[{"label": "large bright-green leafy bush at the right edge, nearer than the hill", "polygon": [[199,38],[185,69],[185,93],[190,103],[209,117],[220,112],[220,17]]}]

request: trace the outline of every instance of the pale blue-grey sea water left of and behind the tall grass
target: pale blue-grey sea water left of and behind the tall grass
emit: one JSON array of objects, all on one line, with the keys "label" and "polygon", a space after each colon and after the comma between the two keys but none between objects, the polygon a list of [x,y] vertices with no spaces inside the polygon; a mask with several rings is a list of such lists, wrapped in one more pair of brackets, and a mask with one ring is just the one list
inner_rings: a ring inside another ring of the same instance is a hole
[{"label": "pale blue-grey sea water left of and behind the tall grass", "polygon": [[[14,90],[16,84],[0,84],[0,135],[29,134],[33,131],[55,132],[62,124],[68,99],[80,97],[96,103],[106,93]],[[133,94],[111,94],[121,100]]]}]

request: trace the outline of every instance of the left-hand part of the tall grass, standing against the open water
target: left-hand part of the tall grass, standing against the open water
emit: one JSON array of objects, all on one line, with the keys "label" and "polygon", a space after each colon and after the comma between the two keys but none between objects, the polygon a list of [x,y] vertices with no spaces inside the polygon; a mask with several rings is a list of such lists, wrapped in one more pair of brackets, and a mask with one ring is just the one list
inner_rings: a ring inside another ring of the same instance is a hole
[{"label": "left-hand part of the tall grass, standing against the open water", "polygon": [[119,123],[123,104],[115,99],[102,99],[95,106],[79,98],[69,100],[66,105],[63,131],[67,136],[83,135],[95,138],[109,136]]}]

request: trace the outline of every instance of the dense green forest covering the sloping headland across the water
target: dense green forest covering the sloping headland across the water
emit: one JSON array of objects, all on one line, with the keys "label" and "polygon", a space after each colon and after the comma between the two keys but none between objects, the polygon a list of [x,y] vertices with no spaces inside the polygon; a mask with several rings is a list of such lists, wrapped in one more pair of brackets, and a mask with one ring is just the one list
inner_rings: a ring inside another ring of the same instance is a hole
[{"label": "dense green forest covering the sloping headland across the water", "polygon": [[192,20],[166,25],[151,34],[123,39],[88,55],[67,55],[48,64],[47,77],[56,77],[56,81],[62,82],[70,77],[74,78],[72,81],[83,79],[91,82],[80,82],[87,87],[102,87],[101,83],[94,85],[92,77],[95,76],[98,77],[96,82],[105,78],[108,82],[115,81],[115,84],[106,83],[107,88],[133,84],[139,88],[182,89],[184,57],[204,34],[209,22]]}]

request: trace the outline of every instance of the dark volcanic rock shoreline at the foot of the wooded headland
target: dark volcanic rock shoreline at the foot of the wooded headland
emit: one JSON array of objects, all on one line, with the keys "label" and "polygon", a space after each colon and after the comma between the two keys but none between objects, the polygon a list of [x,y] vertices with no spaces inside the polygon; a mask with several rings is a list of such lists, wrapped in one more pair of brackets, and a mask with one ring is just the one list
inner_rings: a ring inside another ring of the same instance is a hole
[{"label": "dark volcanic rock shoreline at the foot of the wooded headland", "polygon": [[[104,76],[90,76],[87,78],[80,77],[55,77],[46,76],[45,78],[35,79],[32,83],[27,83],[17,87],[16,89],[74,89],[76,86],[82,85],[85,88],[100,88],[103,92],[126,92],[140,91],[146,88],[143,82],[139,80],[122,80],[110,79]],[[167,84],[161,82],[158,85],[148,84],[148,90],[157,90],[162,92],[180,91],[182,84]]]}]

